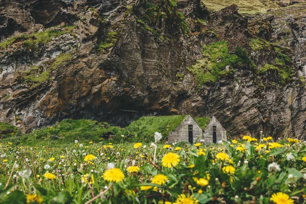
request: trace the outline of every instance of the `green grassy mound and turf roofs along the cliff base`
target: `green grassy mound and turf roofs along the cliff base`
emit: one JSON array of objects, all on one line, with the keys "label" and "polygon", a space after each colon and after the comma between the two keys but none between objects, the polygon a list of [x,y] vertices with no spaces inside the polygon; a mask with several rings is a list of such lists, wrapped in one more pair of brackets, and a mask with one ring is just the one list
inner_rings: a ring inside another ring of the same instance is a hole
[{"label": "green grassy mound and turf roofs along the cliff base", "polygon": [[[56,146],[73,143],[74,140],[78,140],[80,143],[100,142],[108,140],[109,136],[112,136],[111,142],[118,143],[123,139],[121,135],[124,135],[124,141],[152,142],[155,132],[160,132],[163,136],[162,140],[166,141],[169,133],[174,131],[186,116],[145,116],[125,128],[110,126],[106,122],[95,120],[65,119],[53,126],[33,130],[25,135],[20,134],[14,125],[0,123],[0,138],[2,138],[2,142],[14,144]],[[196,117],[194,119],[202,130],[210,121],[210,118],[206,117]]]}]

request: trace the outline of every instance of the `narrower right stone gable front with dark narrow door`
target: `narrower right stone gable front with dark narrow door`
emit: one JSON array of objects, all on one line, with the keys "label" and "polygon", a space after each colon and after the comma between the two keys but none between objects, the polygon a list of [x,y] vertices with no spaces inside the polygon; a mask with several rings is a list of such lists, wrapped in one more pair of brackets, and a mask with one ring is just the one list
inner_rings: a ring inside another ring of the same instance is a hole
[{"label": "narrower right stone gable front with dark narrow door", "polygon": [[217,143],[220,140],[226,141],[226,130],[215,116],[213,116],[207,124],[202,139],[205,143]]}]

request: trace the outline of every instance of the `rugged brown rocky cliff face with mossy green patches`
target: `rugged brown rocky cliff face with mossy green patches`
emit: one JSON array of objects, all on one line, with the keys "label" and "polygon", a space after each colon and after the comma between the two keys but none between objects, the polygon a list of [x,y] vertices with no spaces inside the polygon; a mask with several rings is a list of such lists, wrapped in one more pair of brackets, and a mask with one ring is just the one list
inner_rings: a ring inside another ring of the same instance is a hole
[{"label": "rugged brown rocky cliff face with mossy green patches", "polygon": [[[125,125],[213,116],[233,136],[306,137],[306,6],[241,16],[199,0],[0,3],[0,121]],[[17,13],[17,15],[16,15]]]}]

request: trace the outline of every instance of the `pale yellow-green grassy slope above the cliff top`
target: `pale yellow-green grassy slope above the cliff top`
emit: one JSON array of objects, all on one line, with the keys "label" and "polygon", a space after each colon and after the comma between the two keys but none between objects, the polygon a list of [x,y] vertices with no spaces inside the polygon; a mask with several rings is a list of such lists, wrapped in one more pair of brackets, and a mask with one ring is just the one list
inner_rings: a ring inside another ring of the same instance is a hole
[{"label": "pale yellow-green grassy slope above the cliff top", "polygon": [[[232,4],[239,6],[240,13],[255,14],[266,13],[268,9],[280,8],[271,0],[202,0],[202,2],[210,10],[218,11]],[[282,2],[289,3],[289,0],[282,0]]]}]

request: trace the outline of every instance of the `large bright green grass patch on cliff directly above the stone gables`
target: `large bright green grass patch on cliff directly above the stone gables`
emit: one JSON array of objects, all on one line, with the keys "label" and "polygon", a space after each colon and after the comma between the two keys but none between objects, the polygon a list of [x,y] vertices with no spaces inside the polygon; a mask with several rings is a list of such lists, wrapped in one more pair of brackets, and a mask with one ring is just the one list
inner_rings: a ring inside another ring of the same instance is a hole
[{"label": "large bright green grass patch on cliff directly above the stone gables", "polygon": [[[202,53],[203,59],[197,60],[195,65],[187,67],[193,73],[198,87],[207,82],[215,83],[223,75],[232,74],[233,67],[254,68],[246,51],[241,47],[237,47],[235,54],[229,54],[226,41],[203,45]],[[228,70],[225,69],[227,65],[230,66]]]}]

